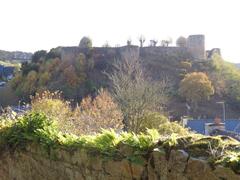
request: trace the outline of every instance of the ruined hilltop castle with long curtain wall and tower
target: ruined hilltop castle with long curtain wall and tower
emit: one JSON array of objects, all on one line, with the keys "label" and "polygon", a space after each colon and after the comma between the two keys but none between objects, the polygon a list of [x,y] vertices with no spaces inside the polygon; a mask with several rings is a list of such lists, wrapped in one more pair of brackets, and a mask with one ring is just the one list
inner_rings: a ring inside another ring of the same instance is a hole
[{"label": "ruined hilltop castle with long curtain wall and tower", "polygon": [[[80,53],[88,53],[89,49],[79,46],[58,47],[62,59],[69,59],[78,56]],[[212,54],[220,54],[220,49],[205,50],[204,35],[190,35],[186,39],[184,47],[178,46],[146,46],[139,47],[135,45],[127,45],[122,47],[94,47],[92,49],[93,57],[97,59],[107,59],[112,57],[121,57],[127,51],[133,52],[138,57],[155,56],[158,58],[175,58],[178,60],[207,60]]]}]

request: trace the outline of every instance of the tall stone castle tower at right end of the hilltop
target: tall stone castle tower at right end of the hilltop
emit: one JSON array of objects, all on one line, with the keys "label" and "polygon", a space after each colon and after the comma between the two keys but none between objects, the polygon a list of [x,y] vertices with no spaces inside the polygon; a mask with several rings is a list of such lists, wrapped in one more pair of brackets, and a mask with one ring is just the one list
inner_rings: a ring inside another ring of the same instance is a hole
[{"label": "tall stone castle tower at right end of the hilltop", "polygon": [[206,59],[205,36],[201,34],[188,36],[187,49],[194,59]]}]

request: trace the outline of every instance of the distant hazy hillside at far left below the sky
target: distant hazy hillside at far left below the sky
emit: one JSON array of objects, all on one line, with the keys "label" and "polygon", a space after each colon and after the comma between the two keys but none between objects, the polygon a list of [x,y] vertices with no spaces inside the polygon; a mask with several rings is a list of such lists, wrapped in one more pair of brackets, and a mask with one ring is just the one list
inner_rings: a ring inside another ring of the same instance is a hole
[{"label": "distant hazy hillside at far left below the sky", "polygon": [[18,60],[18,61],[29,61],[32,58],[32,53],[22,51],[4,51],[0,50],[0,60]]}]

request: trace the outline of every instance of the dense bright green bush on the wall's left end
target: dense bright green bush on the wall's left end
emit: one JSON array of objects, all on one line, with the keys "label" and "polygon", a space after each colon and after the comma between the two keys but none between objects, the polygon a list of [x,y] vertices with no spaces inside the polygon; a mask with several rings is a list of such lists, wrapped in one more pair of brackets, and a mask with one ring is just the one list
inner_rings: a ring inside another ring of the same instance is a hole
[{"label": "dense bright green bush on the wall's left end", "polygon": [[14,123],[0,129],[0,147],[25,148],[28,142],[40,143],[45,147],[54,145],[57,138],[54,121],[42,113],[28,113]]}]

